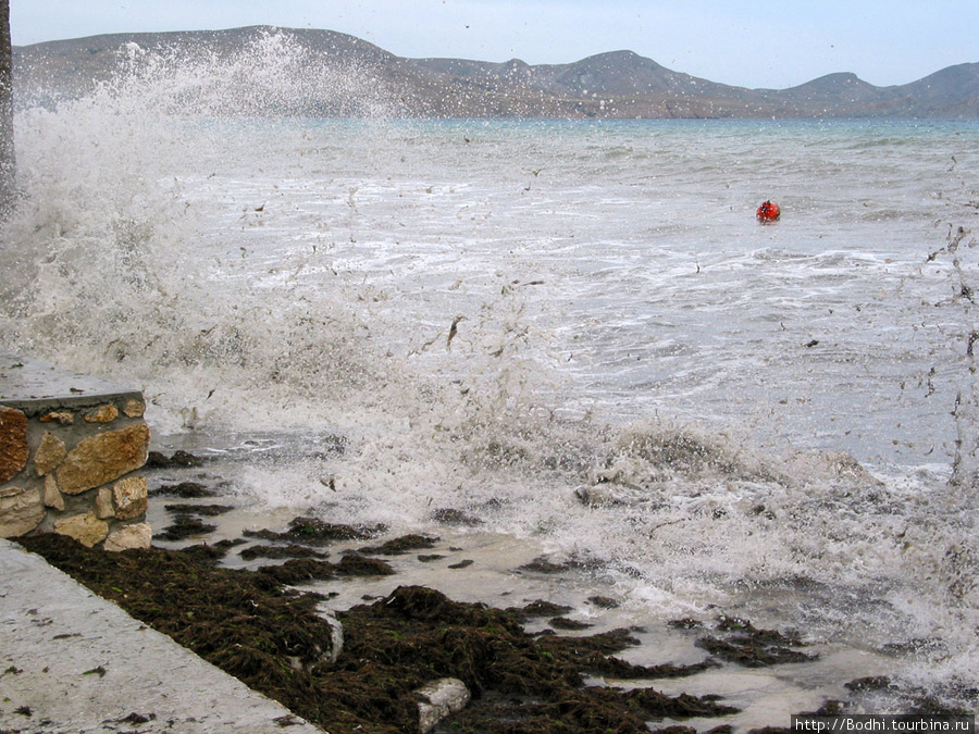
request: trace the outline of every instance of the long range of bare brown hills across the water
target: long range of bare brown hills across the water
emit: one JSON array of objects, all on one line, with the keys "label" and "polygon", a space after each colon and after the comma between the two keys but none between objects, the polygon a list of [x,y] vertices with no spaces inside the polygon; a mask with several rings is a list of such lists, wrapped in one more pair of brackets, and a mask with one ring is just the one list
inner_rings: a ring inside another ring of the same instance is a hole
[{"label": "long range of bare brown hills across the water", "polygon": [[[674,72],[632,51],[536,66],[519,59],[406,59],[332,30],[263,26],[14,47],[15,92],[22,103],[84,96],[113,77],[120,49],[128,43],[140,53],[247,59],[260,39],[275,34],[305,54],[302,84],[294,79],[302,94],[260,89],[269,82],[262,80],[259,61],[253,78],[241,87],[250,103],[243,111],[249,114],[358,114],[381,105],[393,114],[437,117],[979,117],[979,63],[892,87],[840,73],[789,89],[747,89]],[[230,77],[223,83],[236,89],[243,84]]]}]

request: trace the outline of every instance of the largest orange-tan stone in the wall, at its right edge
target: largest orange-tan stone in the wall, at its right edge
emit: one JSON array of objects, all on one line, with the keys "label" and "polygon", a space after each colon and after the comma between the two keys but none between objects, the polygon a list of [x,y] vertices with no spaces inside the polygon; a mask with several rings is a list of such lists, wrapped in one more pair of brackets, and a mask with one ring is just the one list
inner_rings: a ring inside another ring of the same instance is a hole
[{"label": "largest orange-tan stone in the wall, at its right edge", "polygon": [[146,463],[149,427],[145,423],[89,436],[78,441],[58,468],[58,486],[77,495],[127,474]]}]

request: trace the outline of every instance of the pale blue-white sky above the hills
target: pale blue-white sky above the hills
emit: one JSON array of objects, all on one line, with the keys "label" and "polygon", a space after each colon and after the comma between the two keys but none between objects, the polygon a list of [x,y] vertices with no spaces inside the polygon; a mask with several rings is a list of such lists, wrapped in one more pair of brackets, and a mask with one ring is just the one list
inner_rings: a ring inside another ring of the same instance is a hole
[{"label": "pale blue-white sky above the hills", "polygon": [[326,28],[402,57],[568,63],[629,49],[678,72],[784,88],[878,86],[979,62],[977,0],[10,0],[16,46],[107,33]]}]

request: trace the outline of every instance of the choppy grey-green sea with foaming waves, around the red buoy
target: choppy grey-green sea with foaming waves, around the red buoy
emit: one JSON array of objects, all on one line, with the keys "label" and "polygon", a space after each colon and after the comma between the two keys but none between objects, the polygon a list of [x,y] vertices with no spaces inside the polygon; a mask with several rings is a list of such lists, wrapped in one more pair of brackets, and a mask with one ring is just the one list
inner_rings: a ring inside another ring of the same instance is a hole
[{"label": "choppy grey-green sea with foaming waves, around the red buoy", "polygon": [[819,662],[693,684],[738,725],[869,675],[975,708],[976,121],[241,117],[205,76],[22,105],[4,347],[140,385],[243,524],[441,535],[469,575],[406,573],[649,660],[702,657],[681,617],[797,630]]}]

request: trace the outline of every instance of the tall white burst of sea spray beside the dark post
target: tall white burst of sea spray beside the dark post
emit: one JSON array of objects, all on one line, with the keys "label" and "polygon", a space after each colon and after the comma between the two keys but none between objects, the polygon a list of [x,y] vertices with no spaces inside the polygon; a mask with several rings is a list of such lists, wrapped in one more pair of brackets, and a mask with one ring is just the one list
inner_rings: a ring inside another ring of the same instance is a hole
[{"label": "tall white burst of sea spray beside the dark post", "polygon": [[[160,376],[152,375],[156,368],[194,372],[220,365],[225,372],[209,388],[219,382],[227,387],[235,382],[234,368],[272,353],[274,343],[292,349],[268,365],[269,383],[302,368],[300,354],[309,359],[315,346],[305,341],[310,329],[344,316],[331,307],[320,314],[297,307],[273,325],[247,289],[215,298],[210,263],[188,268],[200,256],[203,233],[176,171],[203,151],[215,170],[222,157],[248,154],[222,145],[220,119],[247,125],[249,114],[298,110],[313,99],[379,111],[376,89],[352,65],[331,72],[308,62],[294,39],[271,33],[227,58],[207,49],[178,54],[127,45],[120,50],[120,73],[90,96],[54,111],[20,113],[27,196],[10,229],[17,246],[7,248],[7,257],[23,271],[4,277],[4,304],[20,316],[11,328],[24,348],[133,376],[147,384],[150,396],[162,389],[150,384]],[[374,102],[361,104],[368,98]],[[335,372],[345,378],[363,369],[342,369],[354,350],[335,345],[331,351]],[[326,357],[319,353],[321,361]],[[251,378],[246,383],[255,387]]]}]

